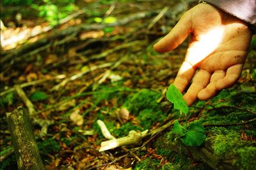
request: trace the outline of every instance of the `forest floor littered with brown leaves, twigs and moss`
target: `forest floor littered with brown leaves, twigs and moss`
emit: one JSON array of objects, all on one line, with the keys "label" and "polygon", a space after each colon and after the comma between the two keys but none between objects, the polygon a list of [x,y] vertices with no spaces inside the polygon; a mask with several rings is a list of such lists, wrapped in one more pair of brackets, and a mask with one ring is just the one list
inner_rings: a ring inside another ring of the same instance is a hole
[{"label": "forest floor littered with brown leaves, twigs and moss", "polygon": [[[78,1],[81,11],[47,32],[42,31],[47,23],[28,14],[20,26],[1,30],[0,169],[17,169],[6,112],[28,108],[28,101],[45,169],[223,169],[222,164],[193,158],[193,153],[172,150],[164,141],[174,139],[171,128],[138,145],[99,152],[108,139],[97,120],[121,138],[177,118],[165,92],[184,60],[188,39],[169,53],[156,53],[153,45],[196,4],[189,2]],[[35,30],[42,32],[31,36]],[[26,39],[6,41],[24,32],[30,32]],[[206,136],[214,136],[212,150],[218,159],[232,159],[241,169],[256,166],[255,65],[254,46],[237,85],[189,107],[188,122],[210,124]],[[239,146],[230,141],[235,138]],[[230,151],[235,146],[238,151]]]}]

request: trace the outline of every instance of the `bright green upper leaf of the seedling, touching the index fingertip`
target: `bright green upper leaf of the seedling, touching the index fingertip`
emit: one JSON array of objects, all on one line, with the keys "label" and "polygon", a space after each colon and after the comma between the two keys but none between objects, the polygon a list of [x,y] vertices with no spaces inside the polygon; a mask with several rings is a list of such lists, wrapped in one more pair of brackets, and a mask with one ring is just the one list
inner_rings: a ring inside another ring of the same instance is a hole
[{"label": "bright green upper leaf of the seedling, touching the index fingertip", "polygon": [[170,85],[166,92],[166,98],[173,103],[175,109],[180,110],[185,115],[188,114],[188,104],[184,101],[182,94],[175,85]]}]

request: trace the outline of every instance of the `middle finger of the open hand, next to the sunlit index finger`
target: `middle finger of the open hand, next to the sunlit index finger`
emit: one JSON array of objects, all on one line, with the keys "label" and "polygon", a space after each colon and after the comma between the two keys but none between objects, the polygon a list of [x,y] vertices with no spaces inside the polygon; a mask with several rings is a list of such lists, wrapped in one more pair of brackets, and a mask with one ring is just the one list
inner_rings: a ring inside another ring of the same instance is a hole
[{"label": "middle finger of the open hand, next to the sunlit index finger", "polygon": [[195,103],[198,93],[208,85],[210,78],[211,73],[204,69],[200,69],[198,73],[196,73],[193,83],[183,96],[183,99],[187,102],[188,106]]}]

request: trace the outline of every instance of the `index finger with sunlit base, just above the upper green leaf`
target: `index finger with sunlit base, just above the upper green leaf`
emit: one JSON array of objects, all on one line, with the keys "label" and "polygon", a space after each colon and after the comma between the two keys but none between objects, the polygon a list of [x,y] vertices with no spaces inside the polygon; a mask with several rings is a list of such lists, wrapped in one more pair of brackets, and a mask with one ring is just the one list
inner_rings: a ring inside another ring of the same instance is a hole
[{"label": "index finger with sunlit base, just above the upper green leaf", "polygon": [[195,68],[189,64],[189,62],[184,61],[180,66],[179,72],[173,82],[175,87],[180,90],[180,92],[184,92],[186,87],[189,85],[191,79],[195,74]]}]

